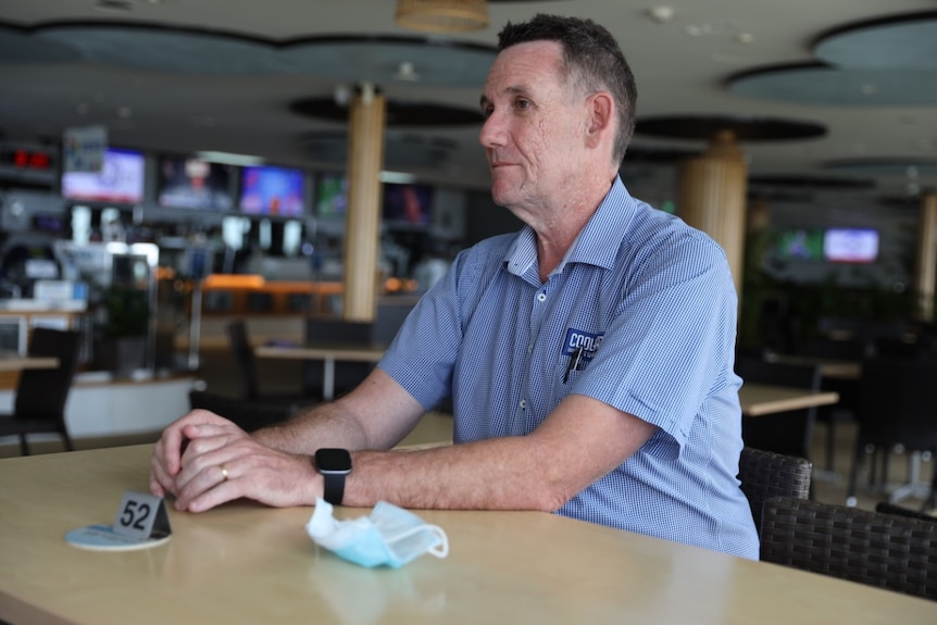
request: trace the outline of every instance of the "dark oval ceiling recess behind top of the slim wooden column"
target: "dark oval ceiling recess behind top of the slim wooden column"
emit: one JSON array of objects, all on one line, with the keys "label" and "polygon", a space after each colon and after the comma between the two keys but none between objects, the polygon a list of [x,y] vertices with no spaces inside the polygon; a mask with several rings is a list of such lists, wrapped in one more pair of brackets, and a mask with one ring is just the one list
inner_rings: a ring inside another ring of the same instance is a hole
[{"label": "dark oval ceiling recess behind top of the slim wooden column", "polygon": [[[304,117],[348,122],[348,107],[334,98],[309,98],[290,103],[290,110]],[[432,102],[387,101],[387,126],[480,126],[482,113]]]}]

